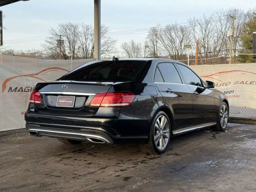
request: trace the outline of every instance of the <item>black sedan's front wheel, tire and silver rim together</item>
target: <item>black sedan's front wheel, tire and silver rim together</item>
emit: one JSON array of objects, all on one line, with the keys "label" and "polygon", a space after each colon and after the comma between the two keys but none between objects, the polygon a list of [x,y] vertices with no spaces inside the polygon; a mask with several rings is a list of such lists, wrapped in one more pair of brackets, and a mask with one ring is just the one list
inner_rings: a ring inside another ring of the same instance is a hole
[{"label": "black sedan's front wheel, tire and silver rim together", "polygon": [[214,131],[225,131],[228,125],[228,105],[226,102],[220,104],[217,124],[214,127],[211,127],[211,130]]}]

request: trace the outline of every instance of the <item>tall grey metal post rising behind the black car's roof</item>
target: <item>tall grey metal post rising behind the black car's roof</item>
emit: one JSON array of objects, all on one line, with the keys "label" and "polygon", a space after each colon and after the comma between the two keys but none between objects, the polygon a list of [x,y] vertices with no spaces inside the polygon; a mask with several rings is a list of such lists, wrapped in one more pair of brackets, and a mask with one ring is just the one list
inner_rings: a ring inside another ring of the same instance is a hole
[{"label": "tall grey metal post rising behind the black car's roof", "polygon": [[94,0],[94,59],[100,60],[100,0]]}]

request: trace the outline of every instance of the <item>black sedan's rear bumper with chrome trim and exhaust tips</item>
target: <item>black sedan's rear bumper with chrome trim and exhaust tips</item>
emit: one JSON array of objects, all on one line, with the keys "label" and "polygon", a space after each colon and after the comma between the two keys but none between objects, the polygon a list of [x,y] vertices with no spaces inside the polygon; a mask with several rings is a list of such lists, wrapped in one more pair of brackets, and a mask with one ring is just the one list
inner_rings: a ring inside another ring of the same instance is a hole
[{"label": "black sedan's rear bumper with chrome trim and exhaust tips", "polygon": [[[148,111],[148,114],[151,113]],[[148,141],[151,118],[89,118],[27,112],[25,120],[28,132],[36,132],[34,136],[126,144]]]}]

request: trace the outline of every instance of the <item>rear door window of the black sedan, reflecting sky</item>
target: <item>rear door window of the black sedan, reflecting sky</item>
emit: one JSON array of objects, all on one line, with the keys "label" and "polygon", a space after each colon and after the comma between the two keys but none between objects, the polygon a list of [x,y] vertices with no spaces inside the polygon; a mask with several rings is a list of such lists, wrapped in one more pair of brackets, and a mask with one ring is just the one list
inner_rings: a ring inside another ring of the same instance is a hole
[{"label": "rear door window of the black sedan, reflecting sky", "polygon": [[158,68],[167,83],[182,83],[178,71],[172,63],[160,63]]}]

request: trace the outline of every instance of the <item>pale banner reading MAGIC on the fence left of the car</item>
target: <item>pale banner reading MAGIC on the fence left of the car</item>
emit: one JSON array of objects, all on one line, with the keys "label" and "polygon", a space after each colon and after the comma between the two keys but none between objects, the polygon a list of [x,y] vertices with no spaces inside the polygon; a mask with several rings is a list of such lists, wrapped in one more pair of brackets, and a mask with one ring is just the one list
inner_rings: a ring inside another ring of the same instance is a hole
[{"label": "pale banner reading MAGIC on the fence left of the car", "polygon": [[[42,60],[0,55],[0,131],[25,127],[24,113],[38,82],[56,80],[86,60]],[[71,67],[72,66],[72,67]]]}]

